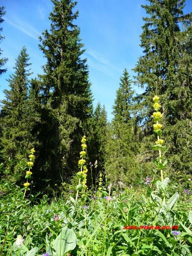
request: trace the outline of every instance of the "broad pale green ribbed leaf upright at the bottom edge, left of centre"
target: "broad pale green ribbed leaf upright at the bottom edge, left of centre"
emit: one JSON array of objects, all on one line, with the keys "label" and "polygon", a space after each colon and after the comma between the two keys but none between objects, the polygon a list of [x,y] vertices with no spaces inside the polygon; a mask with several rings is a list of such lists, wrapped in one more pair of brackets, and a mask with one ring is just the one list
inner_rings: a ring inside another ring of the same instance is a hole
[{"label": "broad pale green ribbed leaf upright at the bottom edge, left of centre", "polygon": [[63,256],[67,252],[75,249],[77,244],[76,234],[67,226],[61,229],[61,233],[56,237],[53,248],[58,256]]}]

